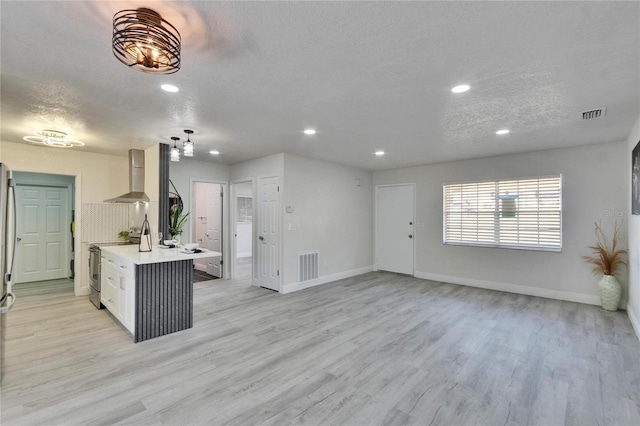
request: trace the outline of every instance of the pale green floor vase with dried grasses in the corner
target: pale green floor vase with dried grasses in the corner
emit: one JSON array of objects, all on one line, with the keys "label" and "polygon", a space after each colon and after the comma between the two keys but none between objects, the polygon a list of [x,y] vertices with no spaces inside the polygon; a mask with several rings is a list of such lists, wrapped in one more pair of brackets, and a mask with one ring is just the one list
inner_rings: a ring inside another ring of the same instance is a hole
[{"label": "pale green floor vase with dried grasses in the corner", "polygon": [[595,225],[596,244],[589,246],[593,254],[582,256],[582,258],[593,265],[594,275],[602,274],[602,279],[598,282],[598,294],[600,295],[602,309],[617,311],[620,296],[622,295],[622,287],[615,274],[618,268],[627,264],[625,260],[627,251],[618,248],[618,238],[620,237],[620,225],[618,225],[618,222],[615,222],[611,241],[602,231],[600,224],[596,223]]}]

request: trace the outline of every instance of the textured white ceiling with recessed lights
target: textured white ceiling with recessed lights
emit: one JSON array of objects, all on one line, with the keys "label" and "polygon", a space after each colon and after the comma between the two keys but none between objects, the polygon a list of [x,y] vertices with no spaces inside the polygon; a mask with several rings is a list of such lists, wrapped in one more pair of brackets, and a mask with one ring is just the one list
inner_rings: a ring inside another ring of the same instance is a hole
[{"label": "textured white ceiling with recessed lights", "polygon": [[[113,14],[142,6],[180,31],[178,73],[113,57]],[[638,2],[3,1],[0,19],[9,142],[54,128],[126,155],[190,128],[200,160],[379,170],[621,141],[640,113]]]}]

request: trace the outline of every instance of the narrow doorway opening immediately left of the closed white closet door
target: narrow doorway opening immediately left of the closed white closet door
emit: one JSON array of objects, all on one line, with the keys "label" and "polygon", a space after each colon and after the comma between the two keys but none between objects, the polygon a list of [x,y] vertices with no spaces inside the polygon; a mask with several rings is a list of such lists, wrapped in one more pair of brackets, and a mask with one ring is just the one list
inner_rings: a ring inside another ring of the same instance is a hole
[{"label": "narrow doorway opening immediately left of the closed white closet door", "polygon": [[233,183],[233,278],[253,276],[253,181]]}]

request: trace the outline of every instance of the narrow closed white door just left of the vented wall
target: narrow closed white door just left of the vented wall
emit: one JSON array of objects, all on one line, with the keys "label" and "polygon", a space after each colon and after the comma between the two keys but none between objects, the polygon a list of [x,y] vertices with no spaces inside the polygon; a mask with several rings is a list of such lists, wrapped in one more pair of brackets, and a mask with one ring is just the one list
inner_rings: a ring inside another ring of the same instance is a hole
[{"label": "narrow closed white door just left of the vented wall", "polygon": [[258,180],[258,285],[280,291],[279,177]]}]

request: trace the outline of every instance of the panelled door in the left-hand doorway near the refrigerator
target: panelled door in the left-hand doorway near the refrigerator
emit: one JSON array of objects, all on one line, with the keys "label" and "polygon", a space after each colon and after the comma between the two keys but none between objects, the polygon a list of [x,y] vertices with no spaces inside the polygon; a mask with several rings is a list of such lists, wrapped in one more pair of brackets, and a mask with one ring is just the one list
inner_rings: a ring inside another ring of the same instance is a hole
[{"label": "panelled door in the left-hand doorway near the refrigerator", "polygon": [[16,284],[69,275],[68,197],[68,188],[17,186]]}]

